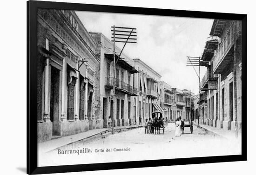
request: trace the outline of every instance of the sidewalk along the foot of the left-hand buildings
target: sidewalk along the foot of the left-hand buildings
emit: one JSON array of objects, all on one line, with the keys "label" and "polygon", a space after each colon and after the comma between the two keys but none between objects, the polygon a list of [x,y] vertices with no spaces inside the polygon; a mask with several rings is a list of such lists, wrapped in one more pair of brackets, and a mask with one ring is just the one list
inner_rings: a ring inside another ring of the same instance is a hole
[{"label": "sidewalk along the foot of the left-hand buildings", "polygon": [[[135,129],[137,127],[141,127],[141,125],[117,126],[117,127],[114,127],[114,129],[115,131],[121,130],[121,129],[129,130],[129,129]],[[46,142],[42,142],[38,144],[38,152],[45,153],[45,152],[60,148],[62,146],[65,146],[67,144],[73,144],[75,142],[81,141],[86,138],[101,137],[103,134],[106,134],[110,131],[112,130],[108,130],[108,128],[93,129],[93,130],[81,132],[78,134],[74,134],[71,136],[59,137],[52,140],[48,140]]]}]

